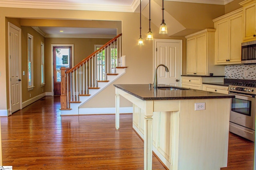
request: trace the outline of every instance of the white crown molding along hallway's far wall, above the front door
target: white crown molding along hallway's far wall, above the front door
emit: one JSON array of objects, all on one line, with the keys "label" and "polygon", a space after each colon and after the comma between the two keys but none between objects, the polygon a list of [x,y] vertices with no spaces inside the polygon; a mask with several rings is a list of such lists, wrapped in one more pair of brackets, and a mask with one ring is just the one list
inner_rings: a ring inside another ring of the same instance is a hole
[{"label": "white crown molding along hallway's far wall, above the front door", "polygon": [[116,35],[88,35],[88,34],[46,34],[46,38],[107,38],[113,39]]}]

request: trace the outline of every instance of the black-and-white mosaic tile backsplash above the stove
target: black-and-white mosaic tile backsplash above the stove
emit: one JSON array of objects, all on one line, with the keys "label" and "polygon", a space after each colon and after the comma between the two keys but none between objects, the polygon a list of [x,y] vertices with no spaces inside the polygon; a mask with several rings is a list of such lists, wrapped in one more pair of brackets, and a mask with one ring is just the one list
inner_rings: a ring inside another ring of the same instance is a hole
[{"label": "black-and-white mosaic tile backsplash above the stove", "polygon": [[256,80],[256,65],[226,65],[225,78]]}]

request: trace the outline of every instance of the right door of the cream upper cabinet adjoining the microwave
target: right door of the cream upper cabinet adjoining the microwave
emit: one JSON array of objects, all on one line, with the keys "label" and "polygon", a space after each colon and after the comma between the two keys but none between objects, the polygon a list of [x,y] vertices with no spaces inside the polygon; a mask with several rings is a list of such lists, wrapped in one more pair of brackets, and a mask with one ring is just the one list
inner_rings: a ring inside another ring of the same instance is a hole
[{"label": "right door of the cream upper cabinet adjoining the microwave", "polygon": [[230,61],[229,63],[241,63],[242,43],[242,15],[230,18]]}]

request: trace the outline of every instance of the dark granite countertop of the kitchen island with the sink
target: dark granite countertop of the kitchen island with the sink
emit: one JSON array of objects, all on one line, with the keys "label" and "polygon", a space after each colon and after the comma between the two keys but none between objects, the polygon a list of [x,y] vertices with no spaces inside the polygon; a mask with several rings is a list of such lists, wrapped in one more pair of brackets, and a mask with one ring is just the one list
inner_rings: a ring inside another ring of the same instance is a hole
[{"label": "dark granite countertop of the kitchen island with the sink", "polygon": [[[131,94],[141,100],[186,100],[186,99],[215,99],[215,98],[234,98],[233,95],[206,92],[203,90],[160,90],[149,88],[148,84],[114,84],[116,88]],[[158,84],[158,87],[168,85]],[[174,86],[168,86],[174,87]],[[175,87],[174,87],[175,88]]]}]

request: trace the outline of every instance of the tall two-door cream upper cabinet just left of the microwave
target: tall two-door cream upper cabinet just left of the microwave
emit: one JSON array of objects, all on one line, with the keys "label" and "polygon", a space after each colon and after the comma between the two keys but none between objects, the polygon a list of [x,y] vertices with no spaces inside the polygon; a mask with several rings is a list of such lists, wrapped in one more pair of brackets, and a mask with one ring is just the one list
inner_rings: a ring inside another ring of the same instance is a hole
[{"label": "tall two-door cream upper cabinet just left of the microwave", "polygon": [[215,64],[240,64],[242,43],[242,8],[214,19]]}]

